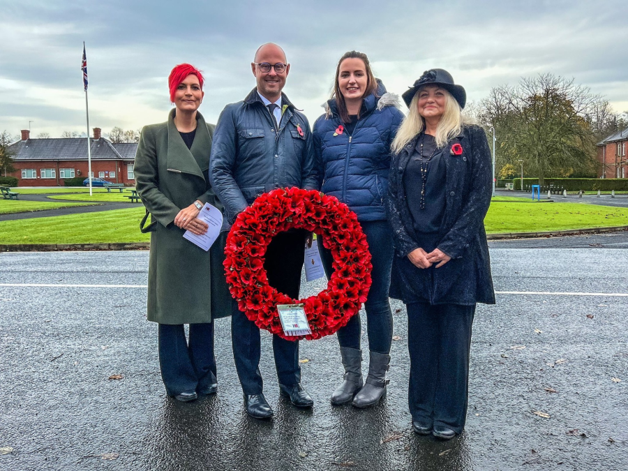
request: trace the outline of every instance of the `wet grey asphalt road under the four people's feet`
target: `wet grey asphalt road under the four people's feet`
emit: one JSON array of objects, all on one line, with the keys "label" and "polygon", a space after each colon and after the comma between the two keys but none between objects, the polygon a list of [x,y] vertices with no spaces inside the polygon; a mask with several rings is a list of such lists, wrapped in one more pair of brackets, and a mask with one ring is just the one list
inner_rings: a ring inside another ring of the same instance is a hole
[{"label": "wet grey asphalt road under the four people's feet", "polygon": [[396,301],[380,405],[329,404],[342,375],[332,336],[301,343],[315,407],[296,410],[278,397],[262,335],[276,412],[264,422],[244,412],[228,319],[216,323],[218,394],[165,396],[144,317],[147,252],[0,253],[0,449],[13,448],[0,470],[627,470],[628,297],[612,294],[628,293],[628,233],[613,235],[616,248],[590,242],[606,235],[491,242],[495,288],[516,294],[478,307],[467,426],[450,442],[410,428]]}]

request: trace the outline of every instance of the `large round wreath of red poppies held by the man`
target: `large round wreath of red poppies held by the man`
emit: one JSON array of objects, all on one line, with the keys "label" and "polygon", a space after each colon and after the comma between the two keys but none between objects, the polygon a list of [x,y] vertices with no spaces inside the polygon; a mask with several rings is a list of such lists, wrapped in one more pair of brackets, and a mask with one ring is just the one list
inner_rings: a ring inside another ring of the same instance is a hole
[{"label": "large round wreath of red poppies held by the man", "polygon": [[[327,289],[306,299],[292,299],[268,283],[264,254],[273,237],[292,227],[323,237],[334,256]],[[240,311],[287,340],[313,340],[334,334],[357,313],[371,287],[371,254],[357,216],[336,197],[316,190],[278,188],[264,193],[242,211],[227,237],[225,274]],[[285,336],[278,304],[304,304],[312,334]]]}]

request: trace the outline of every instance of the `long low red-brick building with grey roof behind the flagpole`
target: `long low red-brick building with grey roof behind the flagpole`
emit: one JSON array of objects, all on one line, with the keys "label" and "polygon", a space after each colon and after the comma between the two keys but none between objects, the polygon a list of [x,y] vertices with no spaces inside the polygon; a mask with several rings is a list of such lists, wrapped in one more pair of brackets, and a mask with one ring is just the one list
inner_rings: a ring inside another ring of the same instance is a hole
[{"label": "long low red-brick building with grey roof behind the flagpole", "polygon": [[[135,186],[133,163],[137,143],[114,144],[101,137],[100,128],[94,128],[89,142],[92,177]],[[8,175],[19,180],[18,186],[63,186],[66,178],[87,178],[86,138],[31,139],[29,130],[22,130],[22,140],[8,149],[17,169]]]}]

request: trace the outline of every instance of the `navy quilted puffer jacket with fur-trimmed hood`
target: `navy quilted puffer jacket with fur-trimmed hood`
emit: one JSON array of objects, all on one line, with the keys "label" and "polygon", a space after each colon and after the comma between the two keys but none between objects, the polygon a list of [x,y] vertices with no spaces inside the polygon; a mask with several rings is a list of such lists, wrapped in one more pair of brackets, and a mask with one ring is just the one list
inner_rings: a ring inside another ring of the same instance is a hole
[{"label": "navy quilted puffer jacket with fur-trimmed hood", "polygon": [[377,82],[381,98],[364,98],[352,135],[336,133],[343,123],[335,99],[313,130],[320,190],[347,204],[361,221],[386,219],[390,144],[403,120],[397,97]]}]

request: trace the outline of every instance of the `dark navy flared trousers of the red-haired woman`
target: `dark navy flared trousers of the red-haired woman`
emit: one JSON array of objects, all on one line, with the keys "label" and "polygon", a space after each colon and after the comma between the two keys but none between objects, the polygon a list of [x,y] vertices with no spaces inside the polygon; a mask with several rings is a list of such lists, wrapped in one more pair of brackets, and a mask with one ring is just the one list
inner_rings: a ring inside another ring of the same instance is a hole
[{"label": "dark navy flared trousers of the red-haired woman", "polygon": [[189,341],[183,324],[159,324],[161,377],[168,396],[202,391],[216,382],[214,322],[190,324]]}]

